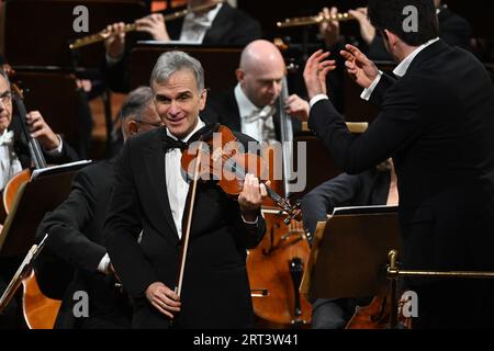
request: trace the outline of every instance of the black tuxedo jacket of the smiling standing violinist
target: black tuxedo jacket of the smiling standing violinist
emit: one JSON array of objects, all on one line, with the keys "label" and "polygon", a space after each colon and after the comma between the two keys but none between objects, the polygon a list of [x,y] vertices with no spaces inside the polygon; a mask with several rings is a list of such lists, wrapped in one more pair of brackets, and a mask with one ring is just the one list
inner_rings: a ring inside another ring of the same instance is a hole
[{"label": "black tuxedo jacket of the smiling standing violinist", "polygon": [[[111,211],[105,224],[106,248],[126,291],[135,301],[133,326],[167,328],[168,319],[151,306],[146,288],[177,284],[181,241],[166,189],[165,128],[131,138],[116,165]],[[237,134],[242,143],[251,140]],[[192,188],[191,188],[192,189]],[[252,326],[246,250],[265,233],[246,225],[238,203],[213,181],[198,184],[187,259],[180,328]],[[144,229],[142,241],[136,238]]]}]

